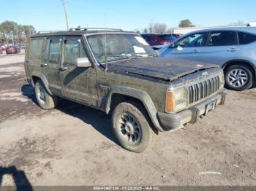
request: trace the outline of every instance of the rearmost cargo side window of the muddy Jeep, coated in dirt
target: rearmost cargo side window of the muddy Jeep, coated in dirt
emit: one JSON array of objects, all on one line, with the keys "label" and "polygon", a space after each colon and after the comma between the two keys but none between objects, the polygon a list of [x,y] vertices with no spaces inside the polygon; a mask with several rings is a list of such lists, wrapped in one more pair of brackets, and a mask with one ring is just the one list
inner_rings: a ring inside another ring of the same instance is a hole
[{"label": "rearmost cargo side window of the muddy Jeep, coated in dirt", "polygon": [[44,39],[31,39],[29,44],[29,58],[41,59]]}]

